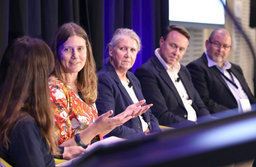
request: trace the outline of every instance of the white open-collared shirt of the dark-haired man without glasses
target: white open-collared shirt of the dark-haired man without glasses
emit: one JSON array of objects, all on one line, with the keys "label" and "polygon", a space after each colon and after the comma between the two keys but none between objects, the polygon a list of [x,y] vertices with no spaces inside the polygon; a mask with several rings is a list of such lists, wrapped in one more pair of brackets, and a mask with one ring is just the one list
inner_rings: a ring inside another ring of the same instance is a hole
[{"label": "white open-collared shirt of the dark-haired man without glasses", "polygon": [[162,65],[164,66],[168,75],[170,76],[173,84],[175,85],[175,87],[180,95],[180,98],[182,99],[182,102],[185,106],[185,109],[188,112],[188,120],[196,122],[196,120],[197,120],[196,111],[192,107],[193,101],[191,99],[189,99],[187,91],[186,91],[182,81],[181,80],[179,80],[179,82],[177,81],[177,78],[179,78],[178,72],[180,71],[180,63],[177,62],[176,64],[172,65],[172,68],[170,68],[166,64],[166,62],[163,60],[163,58],[159,55],[158,50],[159,50],[159,48],[157,48],[155,50],[155,55],[158,58],[158,60],[162,63]]}]

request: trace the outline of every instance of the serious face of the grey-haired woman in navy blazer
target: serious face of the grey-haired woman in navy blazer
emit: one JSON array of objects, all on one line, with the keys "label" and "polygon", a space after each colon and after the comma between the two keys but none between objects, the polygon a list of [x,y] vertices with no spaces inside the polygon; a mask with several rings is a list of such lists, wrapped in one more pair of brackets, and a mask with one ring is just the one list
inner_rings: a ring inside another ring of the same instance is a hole
[{"label": "serious face of the grey-haired woman in navy blazer", "polygon": [[111,49],[111,47],[109,48],[109,55],[111,57],[110,63],[116,71],[126,72],[132,68],[137,53],[137,41],[131,37],[125,36],[118,41],[113,49]]}]

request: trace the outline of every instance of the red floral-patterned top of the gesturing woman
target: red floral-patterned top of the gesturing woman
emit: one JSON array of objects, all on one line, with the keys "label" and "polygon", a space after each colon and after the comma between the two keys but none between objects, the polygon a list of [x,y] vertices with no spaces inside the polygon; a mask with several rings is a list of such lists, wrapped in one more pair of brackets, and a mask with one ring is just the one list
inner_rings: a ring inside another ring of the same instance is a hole
[{"label": "red floral-patterned top of the gesturing woman", "polygon": [[[68,85],[49,82],[51,103],[54,107],[58,144],[63,143],[90,126],[98,117],[95,104],[88,106]],[[98,137],[102,140],[102,135]]]}]

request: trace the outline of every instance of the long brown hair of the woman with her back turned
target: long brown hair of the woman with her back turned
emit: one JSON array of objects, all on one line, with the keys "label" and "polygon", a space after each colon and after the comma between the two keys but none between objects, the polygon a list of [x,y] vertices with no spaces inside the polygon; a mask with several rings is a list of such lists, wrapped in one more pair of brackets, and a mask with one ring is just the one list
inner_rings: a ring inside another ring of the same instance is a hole
[{"label": "long brown hair of the woman with her back turned", "polygon": [[9,65],[0,94],[0,148],[8,149],[17,124],[32,117],[49,151],[59,155],[48,87],[54,66],[51,49],[44,41],[25,36],[16,39],[4,56]]}]

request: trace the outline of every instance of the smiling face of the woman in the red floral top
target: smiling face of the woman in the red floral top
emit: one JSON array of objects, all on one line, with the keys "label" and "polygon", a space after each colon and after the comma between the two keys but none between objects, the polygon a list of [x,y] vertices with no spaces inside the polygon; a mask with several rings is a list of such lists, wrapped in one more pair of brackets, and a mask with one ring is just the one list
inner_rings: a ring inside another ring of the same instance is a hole
[{"label": "smiling face of the woman in the red floral top", "polygon": [[65,73],[78,74],[86,62],[85,40],[77,35],[69,37],[58,49],[61,66]]}]

